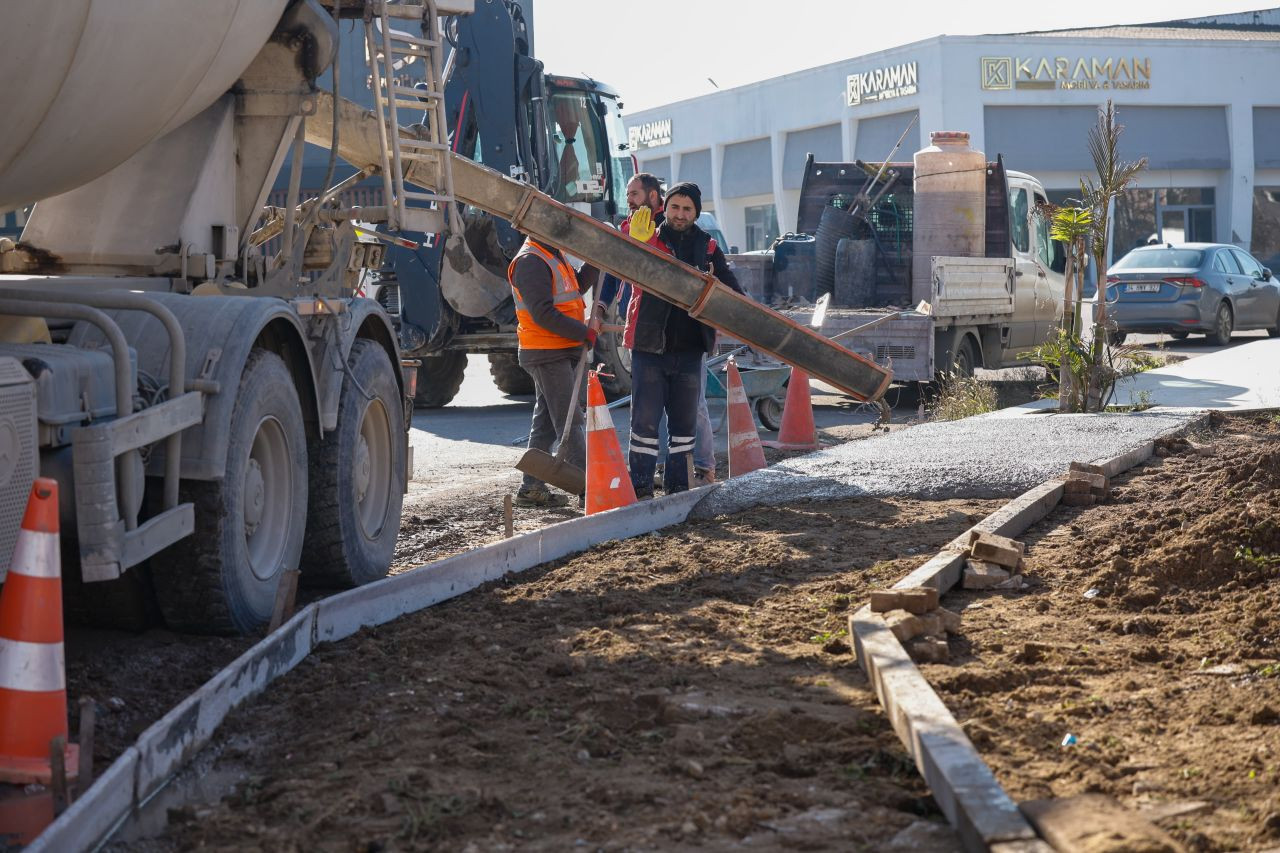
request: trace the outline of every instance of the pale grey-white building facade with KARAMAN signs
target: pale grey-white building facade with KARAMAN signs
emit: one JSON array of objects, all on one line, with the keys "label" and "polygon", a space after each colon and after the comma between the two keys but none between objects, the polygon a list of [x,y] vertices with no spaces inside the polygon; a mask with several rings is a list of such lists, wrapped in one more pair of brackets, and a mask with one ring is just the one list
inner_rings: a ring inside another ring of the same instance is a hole
[{"label": "pale grey-white building facade with KARAMAN signs", "polygon": [[[940,36],[625,118],[641,170],[694,181],[730,243],[795,228],[805,155],[896,160],[968,131],[1052,201],[1093,173],[1111,99],[1124,159],[1148,168],[1116,207],[1116,256],[1152,236],[1233,242],[1280,272],[1280,9],[1133,27]],[[1073,192],[1076,191],[1076,192]]]}]

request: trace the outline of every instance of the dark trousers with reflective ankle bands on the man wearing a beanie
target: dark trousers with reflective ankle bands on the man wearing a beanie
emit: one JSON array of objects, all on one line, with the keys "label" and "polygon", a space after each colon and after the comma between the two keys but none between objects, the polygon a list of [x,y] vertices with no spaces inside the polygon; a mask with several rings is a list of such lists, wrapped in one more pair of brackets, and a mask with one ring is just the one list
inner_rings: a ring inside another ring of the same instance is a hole
[{"label": "dark trousers with reflective ankle bands on the man wearing a beanie", "polygon": [[689,488],[689,460],[698,428],[698,391],[703,382],[701,352],[631,353],[631,485],[653,493],[658,462],[658,421],[667,412],[671,439],[663,488],[668,494]]}]

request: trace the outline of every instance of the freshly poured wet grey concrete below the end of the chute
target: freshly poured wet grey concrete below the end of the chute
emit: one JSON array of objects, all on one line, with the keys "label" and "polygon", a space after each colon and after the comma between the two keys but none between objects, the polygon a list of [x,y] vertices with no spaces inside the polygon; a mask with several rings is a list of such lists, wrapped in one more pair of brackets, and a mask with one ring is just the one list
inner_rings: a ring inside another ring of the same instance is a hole
[{"label": "freshly poured wet grey concrete below the end of the chute", "polygon": [[1187,425],[1194,412],[1028,415],[923,424],[733,478],[691,517],[800,500],[1012,497],[1073,461],[1117,456]]}]

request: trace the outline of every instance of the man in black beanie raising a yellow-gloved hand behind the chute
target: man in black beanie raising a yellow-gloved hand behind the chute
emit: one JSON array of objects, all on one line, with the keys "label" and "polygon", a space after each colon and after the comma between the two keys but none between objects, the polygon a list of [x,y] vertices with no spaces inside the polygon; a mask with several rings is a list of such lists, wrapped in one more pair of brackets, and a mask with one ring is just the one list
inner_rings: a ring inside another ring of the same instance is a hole
[{"label": "man in black beanie raising a yellow-gloved hand behind the chute", "polygon": [[[628,233],[717,279],[742,289],[716,241],[698,227],[703,193],[695,183],[667,191],[662,225],[655,231],[648,209],[637,210]],[[663,488],[668,494],[689,488],[689,455],[694,450],[698,400],[707,353],[716,330],[666,300],[636,289],[627,305],[623,342],[631,350],[631,448],[627,464],[637,497],[653,494],[658,460],[658,421],[667,414],[671,433]]]}]

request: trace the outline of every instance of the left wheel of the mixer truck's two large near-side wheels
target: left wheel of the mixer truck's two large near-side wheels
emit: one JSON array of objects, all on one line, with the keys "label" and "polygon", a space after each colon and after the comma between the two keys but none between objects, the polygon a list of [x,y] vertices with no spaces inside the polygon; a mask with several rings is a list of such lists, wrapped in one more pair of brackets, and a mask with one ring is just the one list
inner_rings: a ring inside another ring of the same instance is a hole
[{"label": "left wheel of the mixer truck's two large near-side wheels", "polygon": [[247,634],[271,617],[307,520],[307,435],[293,375],[256,348],[236,389],[227,471],[183,483],[196,530],[151,561],[160,611],[183,631]]}]

